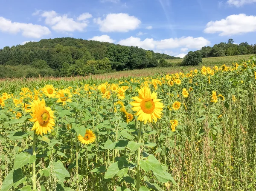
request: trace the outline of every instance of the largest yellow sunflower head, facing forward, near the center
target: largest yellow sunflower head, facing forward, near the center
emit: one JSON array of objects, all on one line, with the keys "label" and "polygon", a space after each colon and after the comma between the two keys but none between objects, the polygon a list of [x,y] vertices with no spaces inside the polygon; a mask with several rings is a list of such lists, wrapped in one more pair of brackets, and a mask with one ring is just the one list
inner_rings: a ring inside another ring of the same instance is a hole
[{"label": "largest yellow sunflower head, facing forward, near the center", "polygon": [[151,123],[152,120],[156,122],[157,118],[161,118],[164,105],[160,99],[157,99],[157,93],[153,91],[151,94],[147,86],[139,89],[139,96],[132,99],[134,100],[130,103],[133,106],[132,110],[137,111],[138,120],[144,121],[144,124]]}]

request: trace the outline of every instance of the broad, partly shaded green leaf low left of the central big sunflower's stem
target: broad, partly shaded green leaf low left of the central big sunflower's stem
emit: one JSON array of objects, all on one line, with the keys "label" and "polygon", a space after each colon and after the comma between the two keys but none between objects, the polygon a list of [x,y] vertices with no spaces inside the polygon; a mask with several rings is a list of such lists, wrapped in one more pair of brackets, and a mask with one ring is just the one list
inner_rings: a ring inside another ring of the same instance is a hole
[{"label": "broad, partly shaded green leaf low left of the central big sunflower's stem", "polygon": [[128,168],[123,168],[124,162],[119,160],[118,162],[112,163],[104,176],[105,179],[112,178],[115,175],[123,177],[128,172]]}]

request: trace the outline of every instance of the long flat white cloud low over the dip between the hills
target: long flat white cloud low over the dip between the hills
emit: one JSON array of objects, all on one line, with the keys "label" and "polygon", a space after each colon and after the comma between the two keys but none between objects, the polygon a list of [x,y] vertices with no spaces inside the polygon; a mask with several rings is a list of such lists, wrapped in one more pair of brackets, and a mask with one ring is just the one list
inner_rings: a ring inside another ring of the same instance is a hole
[{"label": "long flat white cloud low over the dip between the hills", "polygon": [[127,39],[120,40],[118,44],[125,46],[138,46],[140,48],[151,50],[166,50],[179,47],[200,49],[202,46],[208,46],[210,41],[204,37],[181,37],[164,40],[154,40],[152,38],[141,40],[139,37],[129,37]]}]

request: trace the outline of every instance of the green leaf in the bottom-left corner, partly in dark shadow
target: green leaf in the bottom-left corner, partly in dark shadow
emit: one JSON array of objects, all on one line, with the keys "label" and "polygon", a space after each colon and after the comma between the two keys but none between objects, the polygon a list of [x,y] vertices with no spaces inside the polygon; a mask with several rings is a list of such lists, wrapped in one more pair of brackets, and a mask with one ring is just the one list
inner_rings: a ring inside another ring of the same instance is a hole
[{"label": "green leaf in the bottom-left corner, partly in dark shadow", "polygon": [[5,180],[3,181],[3,185],[1,191],[8,191],[12,186],[16,188],[21,183],[25,182],[26,177],[22,174],[21,169],[12,170],[9,172]]}]

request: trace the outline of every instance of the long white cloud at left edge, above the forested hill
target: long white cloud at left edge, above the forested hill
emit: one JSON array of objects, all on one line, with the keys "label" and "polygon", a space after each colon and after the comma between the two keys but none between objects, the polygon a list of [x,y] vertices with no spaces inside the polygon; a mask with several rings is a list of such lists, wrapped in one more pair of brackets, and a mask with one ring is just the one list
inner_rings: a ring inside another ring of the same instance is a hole
[{"label": "long white cloud at left edge, above the forested hill", "polygon": [[51,34],[46,26],[34,25],[32,23],[12,22],[9,19],[0,17],[0,31],[17,34],[22,32],[24,37],[41,38],[44,35]]}]

